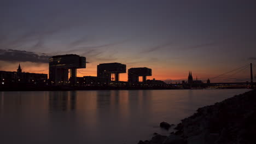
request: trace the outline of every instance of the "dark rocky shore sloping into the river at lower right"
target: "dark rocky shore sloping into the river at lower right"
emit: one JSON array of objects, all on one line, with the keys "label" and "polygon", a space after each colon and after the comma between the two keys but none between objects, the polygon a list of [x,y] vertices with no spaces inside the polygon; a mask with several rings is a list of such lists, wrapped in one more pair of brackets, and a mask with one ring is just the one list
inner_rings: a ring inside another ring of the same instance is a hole
[{"label": "dark rocky shore sloping into the river at lower right", "polygon": [[154,134],[138,144],[256,143],[256,90],[201,107],[175,129],[168,136]]}]

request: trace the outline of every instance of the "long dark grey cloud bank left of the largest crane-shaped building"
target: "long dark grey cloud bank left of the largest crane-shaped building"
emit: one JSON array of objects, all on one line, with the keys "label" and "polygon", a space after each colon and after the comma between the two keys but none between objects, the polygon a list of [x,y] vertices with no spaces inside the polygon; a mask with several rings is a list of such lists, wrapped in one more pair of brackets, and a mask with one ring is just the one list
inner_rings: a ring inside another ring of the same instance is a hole
[{"label": "long dark grey cloud bank left of the largest crane-shaped building", "polygon": [[48,63],[49,57],[48,55],[40,55],[35,52],[0,49],[0,61]]}]

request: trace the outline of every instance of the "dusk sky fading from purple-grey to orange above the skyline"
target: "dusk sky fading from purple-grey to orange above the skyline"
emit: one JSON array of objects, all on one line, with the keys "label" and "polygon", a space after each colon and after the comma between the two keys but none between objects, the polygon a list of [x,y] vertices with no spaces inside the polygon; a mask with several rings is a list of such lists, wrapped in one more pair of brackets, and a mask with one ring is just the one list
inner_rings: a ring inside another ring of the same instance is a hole
[{"label": "dusk sky fading from purple-grey to orange above the skyline", "polygon": [[[78,76],[100,63],[152,68],[148,79],[206,80],[256,64],[256,2],[206,0],[2,0],[0,70],[48,74],[48,58],[86,57]],[[256,71],[256,69],[254,70]],[[120,74],[127,80],[127,73]],[[249,80],[249,68],[212,82]]]}]

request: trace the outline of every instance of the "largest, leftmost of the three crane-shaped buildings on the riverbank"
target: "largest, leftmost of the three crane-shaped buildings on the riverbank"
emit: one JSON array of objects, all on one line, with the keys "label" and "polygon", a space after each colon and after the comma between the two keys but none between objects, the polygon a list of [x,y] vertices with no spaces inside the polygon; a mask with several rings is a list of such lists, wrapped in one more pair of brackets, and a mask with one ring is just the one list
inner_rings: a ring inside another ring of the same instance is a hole
[{"label": "largest, leftmost of the three crane-shaped buildings on the riverbank", "polygon": [[[86,68],[86,58],[78,55],[59,55],[49,58],[49,81],[51,85],[71,85],[77,83],[77,69]],[[70,81],[68,70],[70,69]]]}]

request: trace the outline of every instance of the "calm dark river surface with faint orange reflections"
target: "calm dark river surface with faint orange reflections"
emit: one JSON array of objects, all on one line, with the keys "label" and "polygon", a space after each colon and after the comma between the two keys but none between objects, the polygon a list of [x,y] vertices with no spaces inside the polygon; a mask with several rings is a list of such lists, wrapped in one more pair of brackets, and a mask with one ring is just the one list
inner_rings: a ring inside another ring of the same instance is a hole
[{"label": "calm dark river surface with faint orange reflections", "polygon": [[0,92],[0,143],[137,143],[167,134],[162,121],[246,91]]}]

